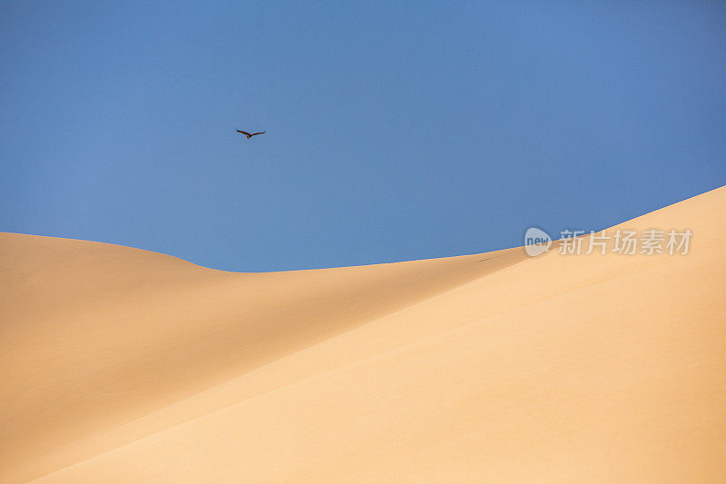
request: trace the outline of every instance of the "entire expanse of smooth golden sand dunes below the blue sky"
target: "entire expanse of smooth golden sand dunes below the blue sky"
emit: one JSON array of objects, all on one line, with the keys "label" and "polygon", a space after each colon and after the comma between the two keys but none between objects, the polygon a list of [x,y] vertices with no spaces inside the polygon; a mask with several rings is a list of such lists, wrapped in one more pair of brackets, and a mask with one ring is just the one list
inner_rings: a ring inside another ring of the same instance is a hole
[{"label": "entire expanse of smooth golden sand dunes below the blue sky", "polygon": [[718,482],[726,188],[521,248],[234,273],[0,234],[0,480]]}]

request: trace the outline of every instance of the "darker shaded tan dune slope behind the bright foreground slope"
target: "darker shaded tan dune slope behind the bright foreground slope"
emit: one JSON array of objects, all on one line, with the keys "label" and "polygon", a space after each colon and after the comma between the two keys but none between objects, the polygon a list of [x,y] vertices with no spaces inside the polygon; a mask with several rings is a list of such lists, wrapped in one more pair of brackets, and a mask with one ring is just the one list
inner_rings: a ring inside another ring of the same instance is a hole
[{"label": "darker shaded tan dune slope behind the bright foreground slope", "polygon": [[28,476],[46,450],[525,259],[235,273],[97,242],[4,233],[0,247],[0,447]]}]

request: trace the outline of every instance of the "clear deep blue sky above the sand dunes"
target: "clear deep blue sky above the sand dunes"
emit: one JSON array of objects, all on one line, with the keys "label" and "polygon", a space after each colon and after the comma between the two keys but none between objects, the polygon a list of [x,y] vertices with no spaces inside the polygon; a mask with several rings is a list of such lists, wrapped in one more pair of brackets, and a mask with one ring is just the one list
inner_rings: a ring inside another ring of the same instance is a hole
[{"label": "clear deep blue sky above the sand dunes", "polygon": [[723,184],[722,2],[0,1],[3,232],[278,271]]}]

